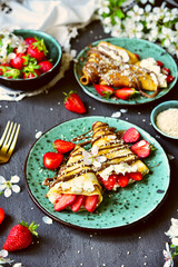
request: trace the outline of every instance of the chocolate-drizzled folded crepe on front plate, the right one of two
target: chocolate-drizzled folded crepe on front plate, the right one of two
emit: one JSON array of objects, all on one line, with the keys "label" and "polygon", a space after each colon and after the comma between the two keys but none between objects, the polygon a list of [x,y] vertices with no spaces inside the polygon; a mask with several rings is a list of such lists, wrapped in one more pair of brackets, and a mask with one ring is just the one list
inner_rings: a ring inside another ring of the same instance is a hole
[{"label": "chocolate-drizzled folded crepe on front plate, the right one of two", "polygon": [[[105,162],[96,170],[97,177],[102,180],[108,180],[110,175],[126,175],[129,172],[140,172],[142,176],[149,172],[148,167],[138,159],[130,150],[129,146],[115,132],[115,128],[108,123],[96,121],[92,125],[92,141],[91,146],[97,147],[98,155],[106,157]],[[134,180],[130,179],[129,184]],[[113,189],[119,187],[116,184]]]}]

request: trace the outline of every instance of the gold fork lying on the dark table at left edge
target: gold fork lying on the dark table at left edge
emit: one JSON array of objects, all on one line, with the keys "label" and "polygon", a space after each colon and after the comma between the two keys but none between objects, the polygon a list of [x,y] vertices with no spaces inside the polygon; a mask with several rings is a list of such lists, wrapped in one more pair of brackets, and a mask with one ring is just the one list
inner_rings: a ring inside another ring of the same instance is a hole
[{"label": "gold fork lying on the dark table at left edge", "polygon": [[20,125],[8,121],[0,139],[0,164],[9,161],[18,139]]}]

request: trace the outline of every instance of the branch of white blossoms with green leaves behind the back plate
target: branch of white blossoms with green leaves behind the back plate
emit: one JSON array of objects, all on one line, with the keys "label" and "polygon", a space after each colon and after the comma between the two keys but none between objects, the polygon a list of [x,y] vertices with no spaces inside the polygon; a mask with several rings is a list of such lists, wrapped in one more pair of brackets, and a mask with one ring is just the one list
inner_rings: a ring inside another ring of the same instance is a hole
[{"label": "branch of white blossoms with green leaves behind the back plate", "polygon": [[[178,58],[178,9],[168,9],[166,2],[154,7],[154,0],[132,2],[135,6],[129,0],[98,0],[98,14],[105,32],[112,37],[158,42]],[[131,8],[125,11],[127,4]],[[145,8],[141,8],[142,4],[146,4]]]}]

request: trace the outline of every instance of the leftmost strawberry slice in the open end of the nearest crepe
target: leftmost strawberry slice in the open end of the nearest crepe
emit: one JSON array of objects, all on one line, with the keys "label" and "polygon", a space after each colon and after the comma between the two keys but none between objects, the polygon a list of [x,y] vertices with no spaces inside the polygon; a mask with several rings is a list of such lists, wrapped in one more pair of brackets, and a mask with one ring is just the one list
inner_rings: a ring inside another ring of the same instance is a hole
[{"label": "leftmost strawberry slice in the open end of the nearest crepe", "polygon": [[57,199],[57,201],[56,201],[56,204],[53,206],[55,210],[56,211],[60,211],[60,210],[66,209],[68,206],[70,206],[72,202],[75,202],[76,198],[77,198],[77,196],[73,195],[73,194],[63,194],[63,195],[61,195]]}]

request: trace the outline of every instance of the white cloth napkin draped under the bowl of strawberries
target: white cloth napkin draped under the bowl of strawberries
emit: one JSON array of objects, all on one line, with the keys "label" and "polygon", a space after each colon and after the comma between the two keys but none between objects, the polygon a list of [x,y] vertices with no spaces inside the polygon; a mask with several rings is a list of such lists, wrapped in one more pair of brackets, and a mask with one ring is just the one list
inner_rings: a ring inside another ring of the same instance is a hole
[{"label": "white cloth napkin draped under the bowl of strawberries", "polygon": [[[7,1],[4,1],[7,3]],[[13,91],[0,86],[0,100],[19,101],[47,91],[65,75],[75,57],[70,50],[70,39],[78,29],[87,26],[97,9],[96,0],[23,0],[22,3],[8,1],[12,11],[0,11],[0,26],[3,29],[36,29],[50,33],[62,46],[62,67],[59,75],[47,86],[31,92]]]}]

